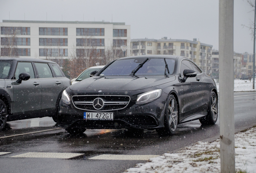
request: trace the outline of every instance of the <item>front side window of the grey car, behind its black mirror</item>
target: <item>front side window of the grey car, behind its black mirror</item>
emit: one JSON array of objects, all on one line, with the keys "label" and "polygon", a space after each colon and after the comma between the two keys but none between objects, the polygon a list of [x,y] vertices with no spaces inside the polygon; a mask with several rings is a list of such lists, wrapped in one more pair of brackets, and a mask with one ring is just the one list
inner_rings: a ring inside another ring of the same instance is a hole
[{"label": "front side window of the grey car, behind its black mirror", "polygon": [[15,79],[18,79],[22,72],[27,72],[30,74],[30,78],[35,78],[35,73],[31,62],[18,62],[14,76]]}]

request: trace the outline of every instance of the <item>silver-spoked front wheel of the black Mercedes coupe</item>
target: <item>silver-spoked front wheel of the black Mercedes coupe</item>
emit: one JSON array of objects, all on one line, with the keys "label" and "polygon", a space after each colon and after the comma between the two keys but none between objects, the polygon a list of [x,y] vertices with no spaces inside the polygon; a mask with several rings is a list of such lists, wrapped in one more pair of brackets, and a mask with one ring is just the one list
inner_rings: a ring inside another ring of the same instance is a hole
[{"label": "silver-spoked front wheel of the black Mercedes coupe", "polygon": [[173,135],[177,130],[179,119],[178,104],[173,95],[169,95],[165,106],[164,127],[156,129],[160,136]]}]

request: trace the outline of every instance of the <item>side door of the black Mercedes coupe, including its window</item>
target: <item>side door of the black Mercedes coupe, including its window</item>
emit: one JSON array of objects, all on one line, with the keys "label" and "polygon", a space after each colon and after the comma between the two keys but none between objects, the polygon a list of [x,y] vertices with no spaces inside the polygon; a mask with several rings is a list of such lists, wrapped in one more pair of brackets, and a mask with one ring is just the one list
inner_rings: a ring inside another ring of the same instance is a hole
[{"label": "side door of the black Mercedes coupe, including its window", "polygon": [[[182,60],[180,75],[183,75],[185,69],[194,70],[192,64],[189,60]],[[202,107],[202,98],[203,98],[203,84],[198,76],[189,77],[185,82],[182,83],[184,91],[184,116],[191,115],[200,111]]]}]

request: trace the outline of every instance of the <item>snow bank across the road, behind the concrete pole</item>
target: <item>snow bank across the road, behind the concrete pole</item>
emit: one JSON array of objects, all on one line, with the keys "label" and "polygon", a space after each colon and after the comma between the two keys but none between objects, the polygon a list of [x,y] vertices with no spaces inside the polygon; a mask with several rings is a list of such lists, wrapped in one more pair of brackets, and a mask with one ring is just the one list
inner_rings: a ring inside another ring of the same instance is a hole
[{"label": "snow bank across the road, behind the concrete pole", "polygon": [[[215,80],[216,82],[216,80]],[[219,83],[216,82],[217,90],[219,92]],[[239,91],[256,91],[256,89],[252,89],[252,80],[240,80],[240,79],[235,79],[234,80],[234,91],[239,92]]]}]

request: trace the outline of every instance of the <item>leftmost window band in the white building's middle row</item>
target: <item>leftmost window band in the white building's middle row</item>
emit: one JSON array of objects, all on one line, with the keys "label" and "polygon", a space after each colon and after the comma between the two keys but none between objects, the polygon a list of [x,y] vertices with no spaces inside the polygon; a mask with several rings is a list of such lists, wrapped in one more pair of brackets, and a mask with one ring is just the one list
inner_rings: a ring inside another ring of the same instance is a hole
[{"label": "leftmost window band in the white building's middle row", "polygon": [[2,37],[1,45],[5,46],[30,46],[30,38],[9,38]]}]

